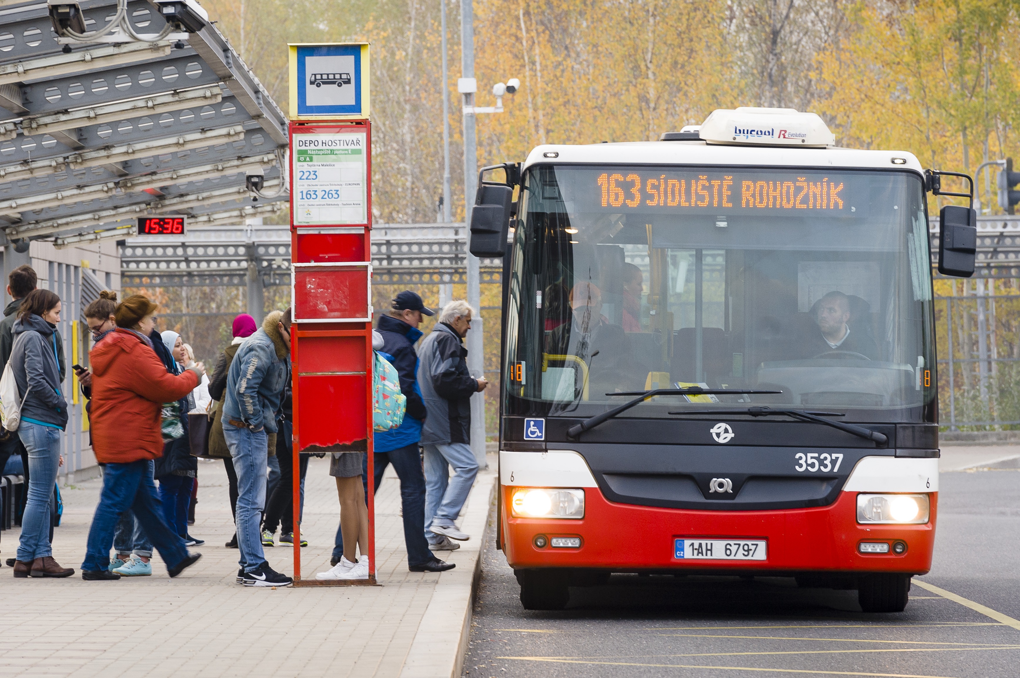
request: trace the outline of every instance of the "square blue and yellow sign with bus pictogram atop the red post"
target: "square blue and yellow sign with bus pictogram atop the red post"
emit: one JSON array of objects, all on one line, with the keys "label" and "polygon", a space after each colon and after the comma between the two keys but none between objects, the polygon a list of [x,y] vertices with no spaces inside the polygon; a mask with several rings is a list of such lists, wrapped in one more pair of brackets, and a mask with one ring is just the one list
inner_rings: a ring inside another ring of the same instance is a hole
[{"label": "square blue and yellow sign with bus pictogram atop the red post", "polygon": [[[336,120],[369,116],[368,43],[293,43],[287,47],[290,52],[292,120]],[[327,68],[317,65],[330,61],[345,65]],[[353,67],[348,65],[352,63]],[[313,81],[317,87],[312,87]],[[326,87],[323,88],[319,81]],[[344,87],[353,88],[354,96],[351,97],[351,90],[344,91]],[[343,102],[337,101],[340,94],[345,95]],[[323,100],[329,97],[334,100]]]}]

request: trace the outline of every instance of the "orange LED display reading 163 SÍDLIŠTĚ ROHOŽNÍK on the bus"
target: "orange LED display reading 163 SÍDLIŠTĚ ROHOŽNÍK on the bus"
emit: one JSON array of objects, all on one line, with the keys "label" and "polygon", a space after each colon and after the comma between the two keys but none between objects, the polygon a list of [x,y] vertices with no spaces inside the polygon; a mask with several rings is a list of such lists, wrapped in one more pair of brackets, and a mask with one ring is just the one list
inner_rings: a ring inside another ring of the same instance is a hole
[{"label": "orange LED display reading 163 S\u00cdDLI\u0160T\u011a ROHO\u017dN\u00cdK on the bus", "polygon": [[[671,213],[819,213],[861,217],[861,179],[840,172],[683,172],[647,168],[583,172],[576,186],[582,205],[612,211]],[[566,196],[564,196],[566,198]],[[567,198],[569,199],[569,198]]]}]

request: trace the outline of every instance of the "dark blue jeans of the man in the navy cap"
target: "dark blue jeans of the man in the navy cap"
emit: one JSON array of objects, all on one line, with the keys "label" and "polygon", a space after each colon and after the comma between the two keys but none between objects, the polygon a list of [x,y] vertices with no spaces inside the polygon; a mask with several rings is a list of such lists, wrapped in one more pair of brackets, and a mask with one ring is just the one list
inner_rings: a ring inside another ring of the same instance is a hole
[{"label": "dark blue jeans of the man in the navy cap", "polygon": [[[368,477],[368,455],[365,455],[362,479]],[[425,476],[421,473],[421,457],[418,455],[418,444],[398,448],[390,452],[376,452],[375,489],[382,482],[386,467],[393,464],[400,478],[400,505],[404,514],[404,543],[407,545],[407,564],[409,567],[424,565],[434,558],[428,551],[428,542],[422,532],[425,524]],[[367,482],[366,482],[367,484]],[[365,496],[367,497],[367,488]],[[435,535],[439,537],[439,535]],[[334,558],[344,555],[344,537],[337,528],[337,537],[333,550]]]}]

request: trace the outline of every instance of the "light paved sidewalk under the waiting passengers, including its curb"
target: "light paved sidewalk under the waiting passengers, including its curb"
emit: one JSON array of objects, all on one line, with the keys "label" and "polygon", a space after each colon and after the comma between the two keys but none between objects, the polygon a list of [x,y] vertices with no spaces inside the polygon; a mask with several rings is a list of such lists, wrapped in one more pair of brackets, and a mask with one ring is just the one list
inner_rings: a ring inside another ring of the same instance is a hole
[{"label": "light paved sidewalk under the waiting passengers, including its curb", "polygon": [[[495,459],[491,468],[496,468]],[[199,463],[197,523],[203,558],[176,579],[159,557],[153,576],[119,581],[14,579],[0,568],[0,676],[407,676],[459,675],[472,575],[489,516],[495,471],[480,472],[461,517],[470,541],[440,557],[443,574],[407,570],[400,486],[388,470],[376,494],[376,570],[381,586],[247,588],[235,583],[237,550],[221,462]],[[101,480],[62,489],[54,558],[80,570]],[[305,578],[329,568],[339,503],[328,460],[312,458],[306,480]],[[278,537],[277,533],[277,537]],[[2,533],[13,558],[17,528]],[[266,549],[293,573],[290,547]]]}]

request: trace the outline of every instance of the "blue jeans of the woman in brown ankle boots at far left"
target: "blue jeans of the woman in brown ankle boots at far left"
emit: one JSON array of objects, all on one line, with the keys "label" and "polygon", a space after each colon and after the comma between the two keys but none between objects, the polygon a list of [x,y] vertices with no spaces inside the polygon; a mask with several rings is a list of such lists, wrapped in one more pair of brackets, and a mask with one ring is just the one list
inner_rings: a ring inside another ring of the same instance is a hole
[{"label": "blue jeans of the woman in brown ankle boots at far left", "polygon": [[17,560],[31,563],[53,555],[50,545],[50,502],[60,465],[60,429],[22,421],[17,435],[29,451],[29,491],[21,516]]}]

